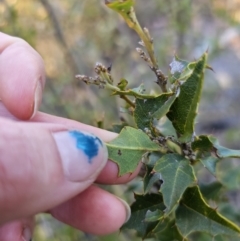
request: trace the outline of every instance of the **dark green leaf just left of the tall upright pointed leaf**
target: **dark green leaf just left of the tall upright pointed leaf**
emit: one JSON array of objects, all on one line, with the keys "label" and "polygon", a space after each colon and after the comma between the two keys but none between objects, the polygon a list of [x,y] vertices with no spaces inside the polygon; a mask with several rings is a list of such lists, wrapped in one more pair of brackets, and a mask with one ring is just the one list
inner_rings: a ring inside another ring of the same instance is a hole
[{"label": "dark green leaf just left of the tall upright pointed leaf", "polygon": [[151,129],[153,118],[160,119],[162,116],[156,116],[156,112],[162,109],[171,97],[172,93],[164,93],[152,99],[136,99],[136,108],[134,110],[134,120],[139,129]]}]

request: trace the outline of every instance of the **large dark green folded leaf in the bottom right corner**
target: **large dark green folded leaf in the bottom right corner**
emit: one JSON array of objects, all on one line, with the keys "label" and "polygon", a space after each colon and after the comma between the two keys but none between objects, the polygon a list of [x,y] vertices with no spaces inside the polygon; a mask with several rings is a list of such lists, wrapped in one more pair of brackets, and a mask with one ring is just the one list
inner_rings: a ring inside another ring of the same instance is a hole
[{"label": "large dark green folded leaf in the bottom right corner", "polygon": [[211,208],[197,186],[188,188],[184,193],[176,211],[176,224],[184,237],[199,231],[213,237],[228,235],[240,238],[239,227]]}]

